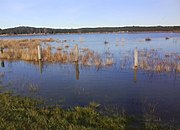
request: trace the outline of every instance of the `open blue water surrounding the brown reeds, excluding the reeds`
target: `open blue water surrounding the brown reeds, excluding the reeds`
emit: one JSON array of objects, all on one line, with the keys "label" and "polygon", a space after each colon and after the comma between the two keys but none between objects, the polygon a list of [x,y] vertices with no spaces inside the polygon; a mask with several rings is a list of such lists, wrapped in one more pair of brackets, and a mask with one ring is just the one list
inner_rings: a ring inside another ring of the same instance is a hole
[{"label": "open blue water surrounding the brown reeds, excluding the reeds", "polygon": [[[152,40],[147,42],[145,38]],[[165,37],[170,37],[165,40]],[[13,36],[0,39],[53,38],[67,40],[67,43],[49,43],[58,47],[66,44],[70,48],[79,44],[99,54],[109,51],[115,64],[97,69],[81,64],[29,63],[4,61],[0,68],[0,83],[5,90],[12,90],[24,96],[43,98],[48,104],[62,104],[64,107],[85,106],[95,101],[101,106],[123,109],[129,114],[143,115],[145,108],[155,106],[156,114],[162,119],[180,121],[180,73],[133,70],[133,50],[155,49],[160,53],[180,54],[179,33],[131,33],[131,34],[63,34],[46,36]],[[109,44],[105,45],[104,41]],[[2,62],[2,60],[1,60]],[[179,62],[179,61],[177,61]],[[32,91],[30,86],[35,86]],[[1,90],[2,91],[2,90]]]}]

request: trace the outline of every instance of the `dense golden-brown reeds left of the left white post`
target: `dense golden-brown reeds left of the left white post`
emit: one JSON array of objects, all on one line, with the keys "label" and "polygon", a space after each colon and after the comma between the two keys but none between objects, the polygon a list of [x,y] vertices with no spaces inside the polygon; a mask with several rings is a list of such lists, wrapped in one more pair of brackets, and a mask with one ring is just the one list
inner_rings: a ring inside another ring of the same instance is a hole
[{"label": "dense golden-brown reeds left of the left white post", "polygon": [[1,59],[37,61],[37,46],[42,42],[52,42],[48,39],[10,39],[0,40],[0,48],[3,48]]}]

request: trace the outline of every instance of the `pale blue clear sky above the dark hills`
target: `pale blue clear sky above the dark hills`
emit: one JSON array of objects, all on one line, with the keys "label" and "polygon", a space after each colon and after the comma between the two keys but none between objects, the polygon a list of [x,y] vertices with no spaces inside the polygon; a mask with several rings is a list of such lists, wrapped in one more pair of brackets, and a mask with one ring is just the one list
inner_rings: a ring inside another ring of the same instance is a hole
[{"label": "pale blue clear sky above the dark hills", "polygon": [[179,26],[180,0],[0,0],[0,28]]}]

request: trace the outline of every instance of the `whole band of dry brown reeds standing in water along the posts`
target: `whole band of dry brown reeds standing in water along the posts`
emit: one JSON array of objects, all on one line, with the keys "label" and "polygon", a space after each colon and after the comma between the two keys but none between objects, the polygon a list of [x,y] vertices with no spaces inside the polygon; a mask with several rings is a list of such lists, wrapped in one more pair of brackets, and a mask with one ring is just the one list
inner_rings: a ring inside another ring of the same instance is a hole
[{"label": "whole band of dry brown reeds standing in water along the posts", "polygon": [[[147,38],[149,40],[150,38]],[[146,40],[146,39],[145,39]],[[49,43],[56,42],[57,47],[52,47]],[[74,63],[76,59],[75,48],[70,46],[67,40],[48,39],[20,39],[20,40],[0,40],[0,59],[5,60],[25,60],[38,62],[38,46],[42,46],[41,62],[50,63]],[[78,64],[84,66],[96,66],[97,68],[112,66],[115,64],[113,52],[106,50],[105,54],[99,54],[89,48],[79,48]],[[180,72],[180,54],[167,53],[155,49],[138,50],[138,68],[146,71],[156,72]],[[121,68],[133,63],[133,55],[123,58],[120,62]],[[132,64],[131,67],[132,68]]]}]

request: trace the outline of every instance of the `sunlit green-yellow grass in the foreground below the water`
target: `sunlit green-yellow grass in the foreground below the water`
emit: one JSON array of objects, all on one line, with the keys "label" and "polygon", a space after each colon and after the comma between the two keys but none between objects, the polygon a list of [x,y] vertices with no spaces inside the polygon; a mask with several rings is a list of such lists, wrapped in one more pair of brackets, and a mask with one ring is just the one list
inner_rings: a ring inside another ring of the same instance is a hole
[{"label": "sunlit green-yellow grass in the foreground below the water", "polygon": [[0,129],[6,130],[166,130],[175,128],[145,122],[142,128],[130,125],[125,115],[104,115],[98,104],[64,110],[40,107],[41,102],[9,93],[0,94]]}]

